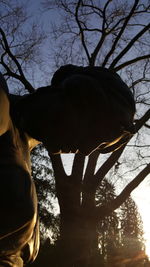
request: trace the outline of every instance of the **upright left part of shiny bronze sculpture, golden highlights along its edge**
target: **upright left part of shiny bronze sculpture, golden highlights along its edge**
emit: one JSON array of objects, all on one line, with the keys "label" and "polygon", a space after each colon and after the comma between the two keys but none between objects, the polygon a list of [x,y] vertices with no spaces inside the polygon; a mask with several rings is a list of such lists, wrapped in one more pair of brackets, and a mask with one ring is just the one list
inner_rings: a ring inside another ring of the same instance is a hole
[{"label": "upright left part of shiny bronze sculpture, golden highlights along its edge", "polygon": [[39,248],[30,141],[10,116],[8,88],[0,74],[0,266],[22,267]]}]

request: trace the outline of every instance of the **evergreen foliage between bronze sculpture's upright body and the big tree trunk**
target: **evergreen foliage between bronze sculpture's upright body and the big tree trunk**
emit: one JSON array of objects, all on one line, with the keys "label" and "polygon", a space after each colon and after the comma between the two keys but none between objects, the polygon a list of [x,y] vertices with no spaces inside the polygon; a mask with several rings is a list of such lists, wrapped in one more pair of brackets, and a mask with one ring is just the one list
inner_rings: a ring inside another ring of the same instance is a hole
[{"label": "evergreen foliage between bronze sculpture's upright body and the big tree trunk", "polygon": [[57,198],[53,170],[48,153],[43,145],[32,151],[32,177],[35,181],[38,202],[41,239],[51,236],[56,240],[59,235],[59,215],[56,210]]}]

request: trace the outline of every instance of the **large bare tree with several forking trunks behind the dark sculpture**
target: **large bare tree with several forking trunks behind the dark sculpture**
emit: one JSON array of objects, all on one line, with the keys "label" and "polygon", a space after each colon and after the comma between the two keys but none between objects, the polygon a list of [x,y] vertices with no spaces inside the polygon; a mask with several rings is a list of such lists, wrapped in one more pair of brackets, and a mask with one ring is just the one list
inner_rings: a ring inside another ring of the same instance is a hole
[{"label": "large bare tree with several forking trunks behind the dark sculpture", "polygon": [[[98,165],[97,171],[95,169],[99,151],[89,156],[85,172],[85,157],[80,154],[75,155],[70,176],[64,171],[61,157],[51,155],[49,152],[61,211],[61,250],[64,253],[62,266],[76,264],[83,267],[92,259],[98,221],[117,209],[150,172],[149,155],[147,155],[150,118],[148,88],[150,24],[147,22],[150,6],[146,0],[144,3],[140,0],[106,0],[97,1],[96,4],[92,0],[47,0],[44,4],[50,11],[52,8],[57,8],[60,18],[63,16],[61,24],[57,26],[53,23],[51,26],[55,42],[58,43],[58,49],[55,45],[56,52],[53,54],[56,66],[72,62],[103,66],[118,71],[131,87],[137,101],[133,138],[126,146],[108,155],[103,163]],[[1,29],[1,37],[1,64],[5,75],[19,80],[29,92],[33,92],[34,88],[25,77],[23,69],[24,63],[28,62],[24,60],[25,52],[28,53],[26,49],[29,49],[32,40],[29,39],[29,47],[23,46],[21,61],[14,49],[17,45],[12,46],[13,40],[9,39],[7,31]],[[36,45],[31,45],[32,47],[35,51]],[[144,143],[141,140],[143,134]],[[132,157],[131,151],[135,150],[137,158],[135,153]],[[127,160],[129,155],[131,166]],[[112,168],[117,171],[121,169],[123,175],[124,169],[119,168],[122,166],[121,163],[126,163],[126,168],[129,170],[134,166],[135,172],[132,172],[132,175],[130,173],[131,179],[113,201],[97,207],[95,193],[98,186]]]}]

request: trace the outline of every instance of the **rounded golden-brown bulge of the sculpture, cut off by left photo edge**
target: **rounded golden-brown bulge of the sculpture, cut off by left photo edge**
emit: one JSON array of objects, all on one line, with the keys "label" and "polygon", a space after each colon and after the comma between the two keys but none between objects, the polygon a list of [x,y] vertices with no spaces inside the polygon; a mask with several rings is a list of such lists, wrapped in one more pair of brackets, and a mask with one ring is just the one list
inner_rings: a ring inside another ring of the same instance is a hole
[{"label": "rounded golden-brown bulge of the sculpture, cut off by left photo edge", "polygon": [[4,134],[9,129],[10,115],[7,93],[7,84],[0,73],[0,135]]}]

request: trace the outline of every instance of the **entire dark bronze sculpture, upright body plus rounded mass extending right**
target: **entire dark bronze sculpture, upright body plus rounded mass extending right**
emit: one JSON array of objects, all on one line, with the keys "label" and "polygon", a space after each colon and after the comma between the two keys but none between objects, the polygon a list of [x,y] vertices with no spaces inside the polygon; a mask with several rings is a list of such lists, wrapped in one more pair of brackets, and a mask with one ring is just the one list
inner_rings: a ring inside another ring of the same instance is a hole
[{"label": "entire dark bronze sculpture, upright body plus rounded mass extending right", "polygon": [[39,249],[31,149],[42,142],[54,154],[113,151],[130,135],[135,105],[117,74],[73,65],[60,68],[51,86],[16,104],[9,98],[0,75],[0,266],[22,267]]}]

